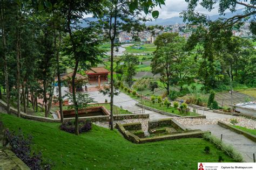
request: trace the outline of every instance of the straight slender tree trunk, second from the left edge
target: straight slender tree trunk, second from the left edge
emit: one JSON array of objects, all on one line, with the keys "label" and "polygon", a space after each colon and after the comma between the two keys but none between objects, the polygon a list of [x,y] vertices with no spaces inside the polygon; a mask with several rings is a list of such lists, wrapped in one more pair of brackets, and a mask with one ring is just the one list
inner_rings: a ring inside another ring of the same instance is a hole
[{"label": "straight slender tree trunk, second from the left edge", "polygon": [[18,117],[21,117],[21,84],[20,84],[20,76],[21,76],[21,72],[20,72],[20,68],[19,68],[19,53],[21,52],[20,49],[19,49],[19,41],[21,40],[21,34],[20,34],[20,31],[19,29],[17,28],[16,29],[16,62],[17,62],[17,87],[16,87],[16,90],[17,90],[17,116]]}]

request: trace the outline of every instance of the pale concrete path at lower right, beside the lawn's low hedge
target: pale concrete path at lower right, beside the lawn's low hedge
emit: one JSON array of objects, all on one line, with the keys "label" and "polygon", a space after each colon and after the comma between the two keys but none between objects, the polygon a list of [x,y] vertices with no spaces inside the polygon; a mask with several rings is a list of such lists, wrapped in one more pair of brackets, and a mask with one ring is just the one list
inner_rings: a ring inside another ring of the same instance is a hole
[{"label": "pale concrete path at lower right, beside the lawn's low hedge", "polygon": [[211,131],[212,134],[219,139],[221,134],[223,134],[223,141],[225,144],[232,145],[238,152],[240,152],[244,158],[244,161],[253,162],[253,153],[256,154],[256,143],[244,137],[242,134],[238,134],[231,130],[222,128],[218,124],[194,125],[187,126],[187,128]]}]

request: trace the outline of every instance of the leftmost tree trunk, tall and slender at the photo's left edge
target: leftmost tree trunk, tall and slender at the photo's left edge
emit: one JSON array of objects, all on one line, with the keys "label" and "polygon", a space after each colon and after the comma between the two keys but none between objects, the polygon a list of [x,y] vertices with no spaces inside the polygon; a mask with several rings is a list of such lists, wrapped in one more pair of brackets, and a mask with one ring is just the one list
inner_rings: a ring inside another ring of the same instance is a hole
[{"label": "leftmost tree trunk, tall and slender at the photo's left edge", "polygon": [[5,37],[5,25],[4,25],[4,1],[1,1],[1,28],[2,28],[2,44],[3,44],[3,60],[4,60],[4,77],[5,77],[5,89],[6,89],[6,103],[7,103],[7,112],[10,114],[10,91],[9,91],[9,82],[8,82],[8,67],[6,59],[6,37]]}]

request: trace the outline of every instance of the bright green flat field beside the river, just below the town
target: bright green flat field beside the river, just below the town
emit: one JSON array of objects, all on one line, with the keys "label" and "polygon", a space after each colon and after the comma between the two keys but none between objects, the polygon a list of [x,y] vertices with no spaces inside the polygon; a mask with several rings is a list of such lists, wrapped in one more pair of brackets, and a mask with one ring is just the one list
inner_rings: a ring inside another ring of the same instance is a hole
[{"label": "bright green flat field beside the river, just below the town", "polygon": [[[141,47],[140,49],[137,47]],[[143,45],[133,45],[125,47],[125,52],[127,53],[153,53],[156,50],[154,44],[143,44]]]}]

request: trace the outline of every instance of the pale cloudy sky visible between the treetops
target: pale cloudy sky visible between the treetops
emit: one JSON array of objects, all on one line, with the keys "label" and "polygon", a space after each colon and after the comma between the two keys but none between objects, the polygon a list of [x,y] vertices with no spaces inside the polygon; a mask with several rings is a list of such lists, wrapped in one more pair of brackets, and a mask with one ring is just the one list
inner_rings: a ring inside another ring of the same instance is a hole
[{"label": "pale cloudy sky visible between the treetops", "polygon": [[[218,5],[215,5],[218,6]],[[237,5],[237,9],[244,8],[241,5]],[[187,3],[185,0],[165,0],[165,5],[161,6],[161,8],[156,7],[154,10],[159,11],[159,17],[161,19],[166,19],[166,18],[172,18],[172,17],[179,17],[180,12],[183,10],[187,9]],[[205,13],[209,16],[212,15],[218,15],[218,8],[214,8],[211,12],[208,10],[204,9],[202,6],[197,6],[196,8],[197,12],[200,13]],[[230,12],[230,11],[226,11]],[[85,17],[92,17],[92,15],[85,15]]]}]

